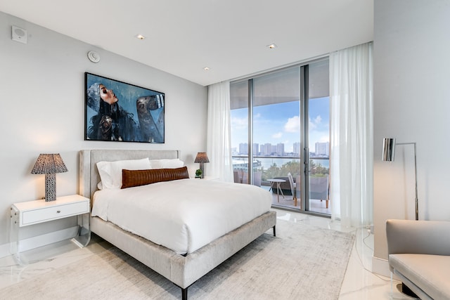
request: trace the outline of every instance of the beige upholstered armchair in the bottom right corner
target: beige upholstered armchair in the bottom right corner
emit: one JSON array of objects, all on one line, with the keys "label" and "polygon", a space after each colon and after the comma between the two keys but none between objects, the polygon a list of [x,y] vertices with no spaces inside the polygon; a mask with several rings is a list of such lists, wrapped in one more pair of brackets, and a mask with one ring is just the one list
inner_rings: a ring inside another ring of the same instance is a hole
[{"label": "beige upholstered armchair in the bottom right corner", "polygon": [[387,220],[392,273],[420,299],[450,299],[450,221]]}]

